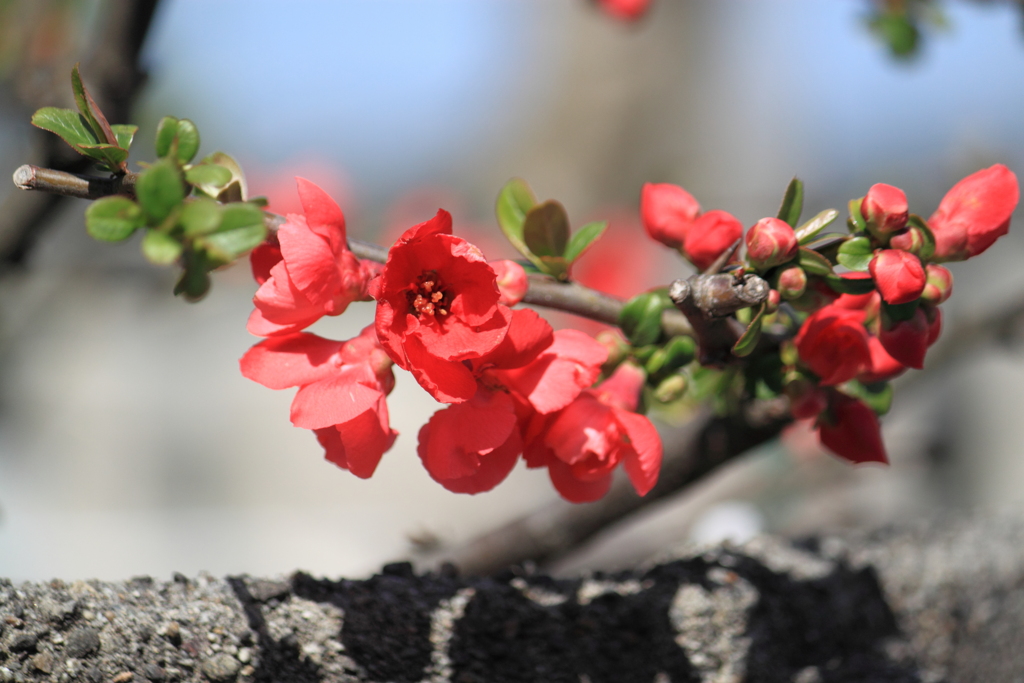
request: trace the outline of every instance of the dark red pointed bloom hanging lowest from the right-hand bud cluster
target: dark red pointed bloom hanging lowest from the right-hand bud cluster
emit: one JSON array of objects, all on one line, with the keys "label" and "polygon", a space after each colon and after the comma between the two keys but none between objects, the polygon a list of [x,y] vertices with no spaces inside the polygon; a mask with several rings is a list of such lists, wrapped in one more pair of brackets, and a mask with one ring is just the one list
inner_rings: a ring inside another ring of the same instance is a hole
[{"label": "dark red pointed bloom hanging lowest from the right-hand bud cluster", "polygon": [[828,411],[818,418],[821,444],[851,463],[889,464],[874,411],[862,401],[833,392]]}]

